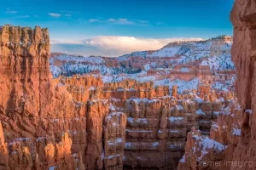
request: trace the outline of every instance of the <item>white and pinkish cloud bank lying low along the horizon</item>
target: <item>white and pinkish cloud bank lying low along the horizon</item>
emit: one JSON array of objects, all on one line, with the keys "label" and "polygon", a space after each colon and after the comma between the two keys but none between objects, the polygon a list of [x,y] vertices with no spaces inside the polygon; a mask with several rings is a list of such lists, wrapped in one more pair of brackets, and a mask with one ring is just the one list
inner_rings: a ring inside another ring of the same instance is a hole
[{"label": "white and pinkish cloud bank lying low along the horizon", "polygon": [[118,57],[135,51],[156,50],[169,42],[201,41],[199,37],[143,38],[99,36],[80,40],[51,40],[51,52]]}]

